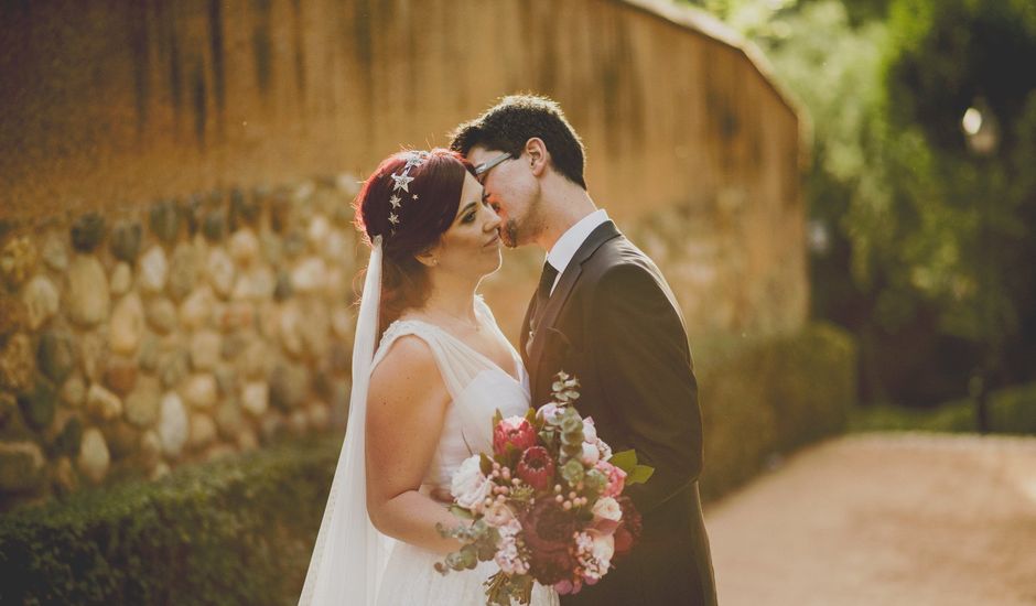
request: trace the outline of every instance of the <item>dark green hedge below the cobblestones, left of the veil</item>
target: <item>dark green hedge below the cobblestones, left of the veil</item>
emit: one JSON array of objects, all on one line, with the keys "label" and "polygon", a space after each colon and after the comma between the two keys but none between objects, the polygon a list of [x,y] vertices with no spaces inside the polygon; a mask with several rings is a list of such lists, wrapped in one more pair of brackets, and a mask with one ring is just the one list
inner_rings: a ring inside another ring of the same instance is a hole
[{"label": "dark green hedge below the cobblestones, left of the veil", "polygon": [[0,604],[294,604],[341,437],[0,518]]}]

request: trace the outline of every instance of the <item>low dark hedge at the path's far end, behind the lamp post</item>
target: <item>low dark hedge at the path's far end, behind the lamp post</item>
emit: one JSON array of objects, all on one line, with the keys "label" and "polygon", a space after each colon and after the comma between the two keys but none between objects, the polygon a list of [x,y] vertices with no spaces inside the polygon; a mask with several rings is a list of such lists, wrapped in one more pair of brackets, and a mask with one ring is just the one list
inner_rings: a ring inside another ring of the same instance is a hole
[{"label": "low dark hedge at the path's far end, behind the lamp post", "polygon": [[[1036,383],[994,391],[989,398],[990,431],[1036,434]],[[853,431],[978,431],[972,400],[954,400],[930,410],[872,405],[853,412]]]}]

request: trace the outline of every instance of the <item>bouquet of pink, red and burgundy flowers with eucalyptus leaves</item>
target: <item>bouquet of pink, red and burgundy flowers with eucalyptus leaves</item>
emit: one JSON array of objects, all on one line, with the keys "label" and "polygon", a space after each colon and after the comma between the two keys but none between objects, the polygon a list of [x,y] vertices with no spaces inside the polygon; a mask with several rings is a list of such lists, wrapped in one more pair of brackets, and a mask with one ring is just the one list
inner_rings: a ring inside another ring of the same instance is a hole
[{"label": "bouquet of pink, red and burgundy flowers with eucalyptus leaves", "polygon": [[493,421],[493,453],[466,459],[452,478],[451,510],[471,526],[445,529],[463,547],[435,564],[442,574],[494,561],[489,605],[528,604],[533,581],[559,594],[579,592],[629,552],[640,516],[623,495],[654,472],[634,451],[612,453],[593,419],[573,402],[579,381],[559,372],[552,401],[525,416]]}]

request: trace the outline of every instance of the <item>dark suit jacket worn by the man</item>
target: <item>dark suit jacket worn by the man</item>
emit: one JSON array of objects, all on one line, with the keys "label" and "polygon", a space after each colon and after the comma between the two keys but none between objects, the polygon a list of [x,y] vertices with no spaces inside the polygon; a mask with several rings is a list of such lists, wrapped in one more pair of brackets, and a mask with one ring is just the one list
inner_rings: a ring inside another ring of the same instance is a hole
[{"label": "dark suit jacket worn by the man", "polygon": [[[714,605],[698,493],[698,383],[683,318],[661,272],[606,221],[576,251],[544,309],[535,306],[533,296],[521,329],[532,404],[550,400],[559,370],[576,376],[576,409],[593,416],[597,434],[655,467],[647,484],[626,490],[644,517],[640,541],[604,580],[562,603]],[[530,336],[533,313],[539,322]]]}]

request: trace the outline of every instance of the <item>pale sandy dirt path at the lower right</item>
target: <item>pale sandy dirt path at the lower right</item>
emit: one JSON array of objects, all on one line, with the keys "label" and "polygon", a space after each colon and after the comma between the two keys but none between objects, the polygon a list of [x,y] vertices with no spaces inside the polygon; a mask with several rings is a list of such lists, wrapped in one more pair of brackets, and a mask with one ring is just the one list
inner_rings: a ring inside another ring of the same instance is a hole
[{"label": "pale sandy dirt path at the lower right", "polygon": [[723,606],[1036,605],[1036,437],[838,439],[705,523]]}]

